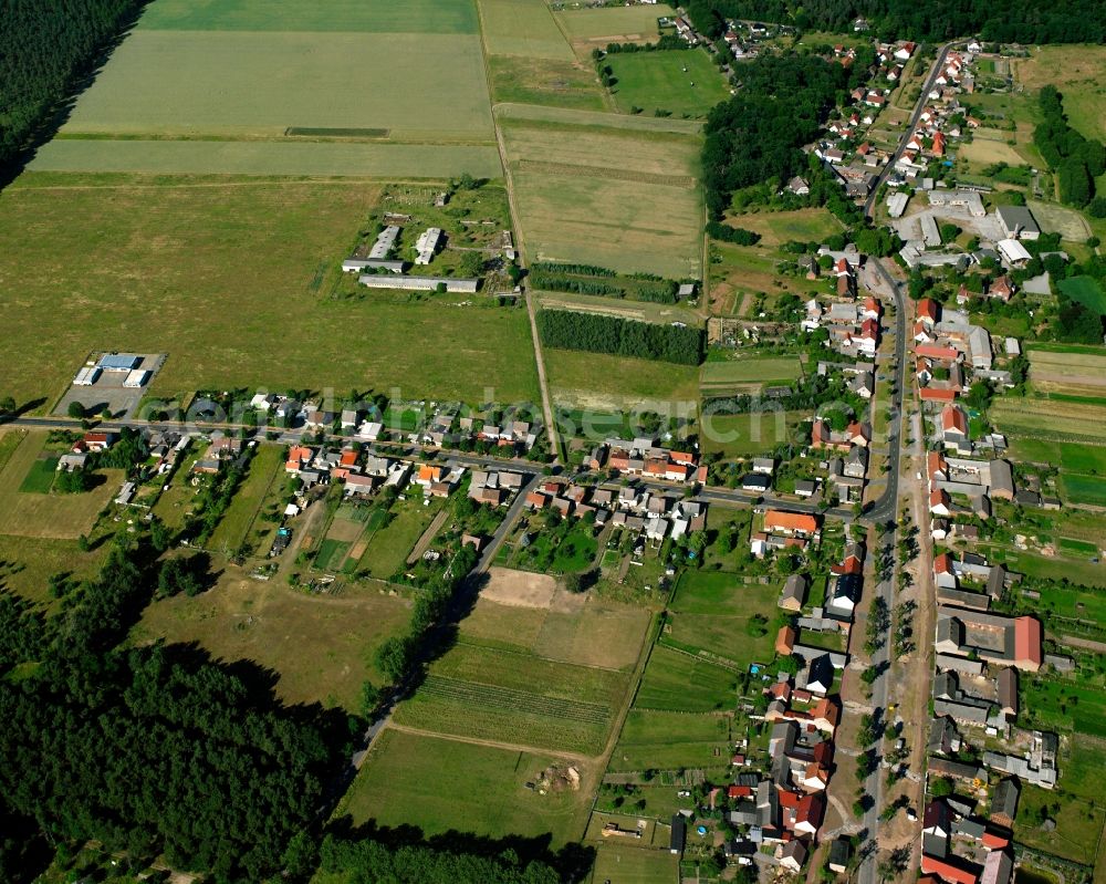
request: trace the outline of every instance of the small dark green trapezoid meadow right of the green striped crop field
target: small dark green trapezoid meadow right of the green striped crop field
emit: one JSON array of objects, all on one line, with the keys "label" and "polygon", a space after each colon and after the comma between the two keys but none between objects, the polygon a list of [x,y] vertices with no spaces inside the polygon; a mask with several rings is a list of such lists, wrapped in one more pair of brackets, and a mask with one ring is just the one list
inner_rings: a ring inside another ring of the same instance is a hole
[{"label": "small dark green trapezoid meadow right of the green striped crop field", "polygon": [[639,709],[709,713],[732,709],[737,674],[657,645],[634,705]]}]

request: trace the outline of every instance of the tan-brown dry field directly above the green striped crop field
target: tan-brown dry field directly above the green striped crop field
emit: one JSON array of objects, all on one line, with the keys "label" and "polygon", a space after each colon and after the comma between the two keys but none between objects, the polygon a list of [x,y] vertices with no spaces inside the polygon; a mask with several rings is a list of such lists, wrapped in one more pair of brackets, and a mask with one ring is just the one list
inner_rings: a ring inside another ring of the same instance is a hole
[{"label": "tan-brown dry field directly above the green striped crop field", "polygon": [[634,667],[650,620],[647,611],[599,600],[576,604],[563,591],[556,593],[550,606],[481,597],[461,623],[460,641],[583,666]]}]

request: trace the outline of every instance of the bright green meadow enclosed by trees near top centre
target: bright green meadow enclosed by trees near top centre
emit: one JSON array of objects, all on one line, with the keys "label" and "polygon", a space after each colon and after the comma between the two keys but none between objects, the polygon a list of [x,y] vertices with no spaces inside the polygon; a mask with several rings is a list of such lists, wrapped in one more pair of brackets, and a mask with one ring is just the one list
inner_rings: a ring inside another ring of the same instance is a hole
[{"label": "bright green meadow enclosed by trees near top centre", "polygon": [[705,50],[620,52],[608,55],[606,63],[617,81],[611,91],[624,114],[640,108],[705,117],[730,97],[729,85]]}]

